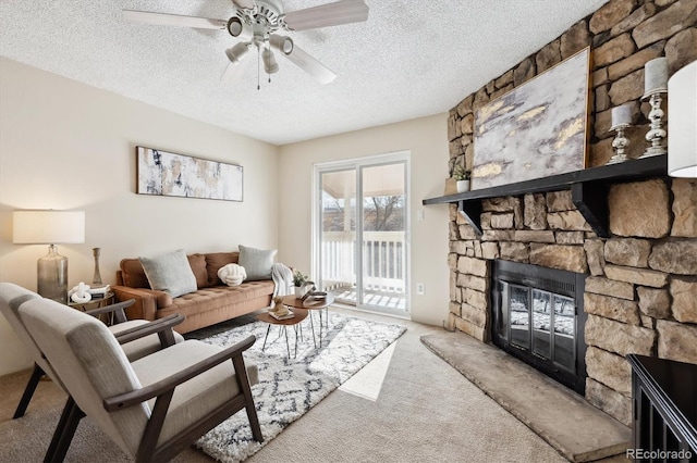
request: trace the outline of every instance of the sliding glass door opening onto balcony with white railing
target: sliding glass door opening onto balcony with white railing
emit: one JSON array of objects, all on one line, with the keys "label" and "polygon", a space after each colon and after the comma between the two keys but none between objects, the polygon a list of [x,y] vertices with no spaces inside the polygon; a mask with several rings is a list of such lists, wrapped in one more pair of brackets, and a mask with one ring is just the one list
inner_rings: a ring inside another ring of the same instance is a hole
[{"label": "sliding glass door opening onto balcony with white railing", "polygon": [[408,154],[317,166],[314,272],[359,309],[408,312]]}]

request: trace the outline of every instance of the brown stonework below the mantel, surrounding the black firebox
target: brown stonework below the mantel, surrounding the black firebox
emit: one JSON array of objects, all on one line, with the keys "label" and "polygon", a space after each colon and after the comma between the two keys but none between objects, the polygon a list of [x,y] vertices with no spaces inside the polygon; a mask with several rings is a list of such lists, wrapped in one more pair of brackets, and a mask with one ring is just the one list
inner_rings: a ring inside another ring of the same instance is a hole
[{"label": "brown stonework below the mantel, surrounding the black firebox", "polygon": [[583,275],[585,397],[628,424],[626,354],[697,363],[697,180],[614,185],[608,204],[610,238],[570,191],[484,200],[482,236],[452,204],[448,325],[491,341],[496,261]]}]

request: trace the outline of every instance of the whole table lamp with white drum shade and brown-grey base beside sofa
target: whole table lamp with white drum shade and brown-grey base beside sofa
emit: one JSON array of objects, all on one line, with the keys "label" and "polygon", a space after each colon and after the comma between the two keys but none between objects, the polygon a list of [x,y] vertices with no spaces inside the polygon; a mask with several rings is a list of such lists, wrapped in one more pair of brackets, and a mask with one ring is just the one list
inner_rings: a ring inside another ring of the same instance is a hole
[{"label": "whole table lamp with white drum shade and brown-grey base beside sofa", "polygon": [[68,303],[68,258],[56,245],[85,242],[85,211],[14,211],[12,222],[15,245],[49,245],[37,262],[38,293]]}]

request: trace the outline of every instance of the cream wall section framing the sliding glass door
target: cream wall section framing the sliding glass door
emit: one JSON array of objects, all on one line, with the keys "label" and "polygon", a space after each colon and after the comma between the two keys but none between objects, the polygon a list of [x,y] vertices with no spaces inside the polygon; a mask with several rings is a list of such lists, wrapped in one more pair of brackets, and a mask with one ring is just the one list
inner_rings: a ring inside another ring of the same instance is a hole
[{"label": "cream wall section framing the sliding glass door", "polygon": [[[448,176],[448,114],[318,138],[281,147],[279,260],[311,268],[311,187],[314,164],[411,151],[412,320],[441,325],[448,314],[448,207],[421,205],[443,195]],[[418,221],[423,210],[425,220]],[[423,283],[424,296],[416,296]]]}]

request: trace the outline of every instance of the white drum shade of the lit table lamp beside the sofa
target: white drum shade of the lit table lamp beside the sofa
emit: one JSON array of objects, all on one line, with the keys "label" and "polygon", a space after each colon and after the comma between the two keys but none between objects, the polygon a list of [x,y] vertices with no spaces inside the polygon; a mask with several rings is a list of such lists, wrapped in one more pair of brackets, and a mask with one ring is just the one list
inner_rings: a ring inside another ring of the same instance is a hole
[{"label": "white drum shade of the lit table lamp beside the sofa", "polygon": [[12,222],[16,245],[85,242],[85,211],[14,211]]}]

